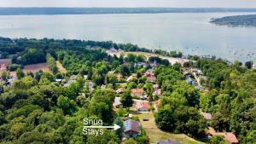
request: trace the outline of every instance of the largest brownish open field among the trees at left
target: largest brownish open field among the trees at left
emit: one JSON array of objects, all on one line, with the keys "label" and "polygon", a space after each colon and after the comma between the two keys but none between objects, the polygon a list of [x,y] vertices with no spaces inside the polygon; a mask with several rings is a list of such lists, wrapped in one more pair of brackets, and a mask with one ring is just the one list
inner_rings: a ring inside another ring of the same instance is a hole
[{"label": "largest brownish open field among the trees at left", "polygon": [[49,67],[47,66],[47,63],[40,63],[40,64],[33,64],[33,65],[26,65],[24,66],[23,72],[38,72],[39,70],[42,70],[44,72],[50,72]]}]

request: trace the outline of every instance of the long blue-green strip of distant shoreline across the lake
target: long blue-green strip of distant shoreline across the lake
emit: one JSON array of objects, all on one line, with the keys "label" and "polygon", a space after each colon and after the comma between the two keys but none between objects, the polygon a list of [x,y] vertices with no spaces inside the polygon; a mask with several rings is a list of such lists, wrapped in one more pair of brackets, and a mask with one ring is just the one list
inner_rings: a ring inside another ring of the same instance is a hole
[{"label": "long blue-green strip of distant shoreline across the lake", "polygon": [[0,15],[27,14],[162,14],[162,13],[236,13],[256,9],[233,8],[4,8]]}]

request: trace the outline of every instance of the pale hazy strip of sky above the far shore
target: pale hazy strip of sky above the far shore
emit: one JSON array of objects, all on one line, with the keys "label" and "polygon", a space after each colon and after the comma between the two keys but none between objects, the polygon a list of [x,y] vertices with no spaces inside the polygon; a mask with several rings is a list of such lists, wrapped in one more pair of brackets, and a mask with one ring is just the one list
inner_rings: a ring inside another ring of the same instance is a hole
[{"label": "pale hazy strip of sky above the far shore", "polygon": [[256,0],[0,0],[0,7],[256,8]]}]

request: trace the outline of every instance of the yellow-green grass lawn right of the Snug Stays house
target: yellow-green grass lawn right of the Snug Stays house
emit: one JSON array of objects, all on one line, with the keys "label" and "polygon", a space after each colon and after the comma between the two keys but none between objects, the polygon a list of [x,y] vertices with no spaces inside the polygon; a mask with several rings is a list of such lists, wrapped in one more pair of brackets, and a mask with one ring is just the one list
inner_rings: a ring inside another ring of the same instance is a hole
[{"label": "yellow-green grass lawn right of the Snug Stays house", "polygon": [[[172,140],[172,141],[179,141],[183,144],[202,144],[203,142],[195,141],[188,135],[184,134],[172,134],[165,131],[162,131],[157,128],[157,126],[154,123],[154,115],[152,112],[148,113],[137,113],[134,110],[131,110],[131,113],[133,113],[133,116],[138,116],[140,119],[140,122],[143,126],[143,129],[146,130],[147,135],[150,139],[150,143],[155,143],[156,141],[160,140]],[[148,121],[143,121],[143,118],[148,118]]]}]

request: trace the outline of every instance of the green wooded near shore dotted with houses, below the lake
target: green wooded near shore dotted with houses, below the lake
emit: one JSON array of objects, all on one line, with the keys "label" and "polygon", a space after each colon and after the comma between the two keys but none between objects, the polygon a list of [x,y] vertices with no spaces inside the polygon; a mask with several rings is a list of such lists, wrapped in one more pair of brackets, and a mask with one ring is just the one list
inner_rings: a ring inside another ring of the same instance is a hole
[{"label": "green wooded near shore dotted with houses, below the lake", "polygon": [[[253,62],[230,64],[215,57],[190,56],[182,65],[144,55],[111,56],[107,49],[151,52],[112,42],[1,37],[1,58],[10,60],[1,69],[1,144],[120,143],[123,128],[104,130],[104,135],[83,135],[83,119],[99,118],[104,125],[122,125],[129,118],[133,123],[145,123],[129,116],[137,108],[135,101],[146,103],[155,124],[165,132],[212,144],[227,142],[221,136],[208,136],[212,127],[233,133],[240,143],[256,142]],[[181,56],[160,50],[154,53]],[[56,60],[67,72],[58,70]],[[47,62],[50,72],[23,72],[24,66],[41,62]],[[204,80],[195,85],[198,73]],[[115,105],[117,97],[122,106]],[[156,102],[158,106],[154,106]],[[211,113],[212,120],[207,121],[201,112]],[[125,137],[123,142],[147,144],[149,136],[140,127],[138,135]]]}]

